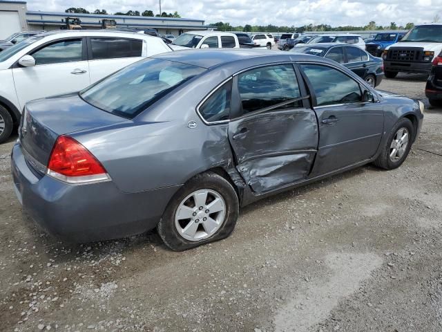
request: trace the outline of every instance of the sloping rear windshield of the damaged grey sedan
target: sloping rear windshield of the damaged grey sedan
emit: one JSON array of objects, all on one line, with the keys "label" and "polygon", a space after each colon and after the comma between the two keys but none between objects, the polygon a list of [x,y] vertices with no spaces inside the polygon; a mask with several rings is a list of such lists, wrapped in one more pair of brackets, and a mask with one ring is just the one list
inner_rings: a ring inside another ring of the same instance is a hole
[{"label": "sloping rear windshield of the damaged grey sedan", "polygon": [[180,62],[146,59],[89,86],[79,95],[103,111],[131,119],[205,70]]}]

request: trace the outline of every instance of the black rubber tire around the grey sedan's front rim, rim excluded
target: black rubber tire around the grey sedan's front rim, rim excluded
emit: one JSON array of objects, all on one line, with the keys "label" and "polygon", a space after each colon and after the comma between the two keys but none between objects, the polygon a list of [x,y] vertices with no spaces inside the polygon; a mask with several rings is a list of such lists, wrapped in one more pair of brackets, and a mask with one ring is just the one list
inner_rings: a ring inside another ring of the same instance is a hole
[{"label": "black rubber tire around the grey sedan's front rim, rim excluded", "polygon": [[[408,145],[407,148],[405,149],[403,156],[401,156],[401,158],[398,159],[397,161],[393,161],[390,159],[390,147],[392,145],[394,136],[396,136],[398,130],[402,128],[407,129],[409,133]],[[408,154],[410,153],[412,142],[414,141],[414,135],[415,135],[414,127],[410,120],[408,120],[407,118],[401,118],[401,120],[398,120],[398,122],[394,125],[390,135],[388,136],[387,141],[385,142],[385,146],[381,151],[381,154],[374,161],[374,165],[376,165],[377,167],[381,167],[383,169],[395,169],[401,166],[404,160],[407,158]]]}]

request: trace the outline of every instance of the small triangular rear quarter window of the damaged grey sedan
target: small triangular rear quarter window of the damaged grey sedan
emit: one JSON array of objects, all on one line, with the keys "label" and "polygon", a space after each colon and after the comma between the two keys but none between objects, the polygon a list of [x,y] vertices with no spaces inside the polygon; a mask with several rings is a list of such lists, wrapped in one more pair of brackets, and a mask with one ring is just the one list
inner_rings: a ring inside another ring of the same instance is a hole
[{"label": "small triangular rear quarter window of the damaged grey sedan", "polygon": [[200,107],[201,116],[207,122],[229,120],[231,81],[222,85]]}]

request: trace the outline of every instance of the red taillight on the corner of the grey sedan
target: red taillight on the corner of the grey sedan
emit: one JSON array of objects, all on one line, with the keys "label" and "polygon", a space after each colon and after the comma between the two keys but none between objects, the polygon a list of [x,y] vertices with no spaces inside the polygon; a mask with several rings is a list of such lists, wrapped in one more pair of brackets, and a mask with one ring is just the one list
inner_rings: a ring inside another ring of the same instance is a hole
[{"label": "red taillight on the corner of the grey sedan", "polygon": [[61,176],[96,176],[106,174],[103,165],[86,147],[69,136],[59,136],[48,163],[48,174]]}]

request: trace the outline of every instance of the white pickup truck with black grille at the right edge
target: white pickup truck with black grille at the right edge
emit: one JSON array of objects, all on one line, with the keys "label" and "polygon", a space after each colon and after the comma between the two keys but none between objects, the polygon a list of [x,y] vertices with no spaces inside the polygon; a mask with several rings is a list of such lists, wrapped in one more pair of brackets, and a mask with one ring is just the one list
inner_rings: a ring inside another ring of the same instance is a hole
[{"label": "white pickup truck with black grille at the right edge", "polygon": [[385,77],[398,73],[430,75],[432,60],[442,51],[442,24],[420,24],[383,53]]}]

